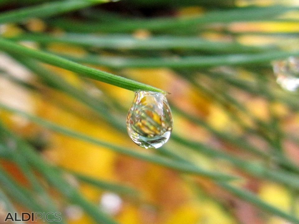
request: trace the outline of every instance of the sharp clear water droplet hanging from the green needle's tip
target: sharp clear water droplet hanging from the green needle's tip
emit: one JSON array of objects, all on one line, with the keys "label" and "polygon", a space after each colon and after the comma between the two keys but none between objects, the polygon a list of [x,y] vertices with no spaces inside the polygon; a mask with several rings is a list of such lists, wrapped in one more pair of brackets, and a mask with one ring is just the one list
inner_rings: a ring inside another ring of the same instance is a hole
[{"label": "sharp clear water droplet hanging from the green needle's tip", "polygon": [[137,91],[127,116],[127,131],[137,145],[159,148],[170,137],[173,120],[163,93]]}]

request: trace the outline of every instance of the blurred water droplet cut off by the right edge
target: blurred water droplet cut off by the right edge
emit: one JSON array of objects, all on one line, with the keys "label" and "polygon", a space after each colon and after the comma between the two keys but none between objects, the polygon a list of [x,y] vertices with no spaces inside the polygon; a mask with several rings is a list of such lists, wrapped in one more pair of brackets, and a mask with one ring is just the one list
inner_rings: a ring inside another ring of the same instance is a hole
[{"label": "blurred water droplet cut off by the right edge", "polygon": [[299,58],[289,57],[286,60],[273,62],[276,82],[285,90],[296,91],[299,87]]}]

